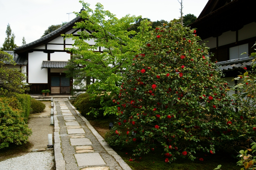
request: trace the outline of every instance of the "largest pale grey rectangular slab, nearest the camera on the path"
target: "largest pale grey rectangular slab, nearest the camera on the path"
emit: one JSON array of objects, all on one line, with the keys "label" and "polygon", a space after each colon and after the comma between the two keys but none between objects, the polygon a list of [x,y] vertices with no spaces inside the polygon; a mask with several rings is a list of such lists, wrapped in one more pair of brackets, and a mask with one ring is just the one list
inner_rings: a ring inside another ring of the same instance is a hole
[{"label": "largest pale grey rectangular slab, nearest the camera on the path", "polygon": [[99,153],[74,154],[78,166],[106,165]]}]

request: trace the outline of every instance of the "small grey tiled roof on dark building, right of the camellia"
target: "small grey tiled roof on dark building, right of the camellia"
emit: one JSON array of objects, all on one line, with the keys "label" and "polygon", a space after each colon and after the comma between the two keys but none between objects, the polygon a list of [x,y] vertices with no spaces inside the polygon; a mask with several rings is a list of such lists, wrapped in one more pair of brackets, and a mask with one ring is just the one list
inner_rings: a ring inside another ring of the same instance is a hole
[{"label": "small grey tiled roof on dark building, right of the camellia", "polygon": [[244,57],[239,59],[233,59],[228,61],[218,62],[216,65],[222,71],[231,71],[235,69],[243,69],[246,66],[250,66],[252,63],[252,57]]}]

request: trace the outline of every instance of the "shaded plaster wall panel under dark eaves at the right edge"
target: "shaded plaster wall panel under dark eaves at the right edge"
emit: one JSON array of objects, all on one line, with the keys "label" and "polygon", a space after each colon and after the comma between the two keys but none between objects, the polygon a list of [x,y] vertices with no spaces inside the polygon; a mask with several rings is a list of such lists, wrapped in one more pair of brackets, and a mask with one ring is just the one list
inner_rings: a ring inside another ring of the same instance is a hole
[{"label": "shaded plaster wall panel under dark eaves at the right edge", "polygon": [[245,25],[242,29],[238,30],[238,41],[245,40],[247,38],[256,37],[256,23],[252,22]]}]

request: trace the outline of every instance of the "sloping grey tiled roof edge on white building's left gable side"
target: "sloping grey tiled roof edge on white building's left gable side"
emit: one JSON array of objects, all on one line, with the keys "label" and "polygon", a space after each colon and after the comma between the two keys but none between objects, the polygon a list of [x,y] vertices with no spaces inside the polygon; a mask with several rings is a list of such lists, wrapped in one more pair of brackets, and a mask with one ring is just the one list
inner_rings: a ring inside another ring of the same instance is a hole
[{"label": "sloping grey tiled roof edge on white building's left gable side", "polygon": [[67,28],[68,26],[74,24],[74,23],[75,23],[76,21],[78,21],[79,19],[80,19],[80,17],[76,17],[76,18],[72,19],[70,22],[68,22],[67,24],[65,24],[64,26],[61,26],[60,28],[58,28],[57,30],[55,30],[55,31],[53,31],[53,32],[51,32],[51,33],[49,33],[49,34],[47,34],[47,35],[45,35],[45,36],[39,38],[39,39],[36,40],[36,41],[30,42],[30,43],[28,43],[28,44],[26,44],[26,45],[24,45],[24,46],[20,46],[20,47],[18,47],[18,48],[15,48],[14,51],[19,50],[19,49],[21,49],[21,48],[29,47],[29,46],[35,45],[35,44],[37,44],[37,43],[39,43],[39,42],[41,42],[41,41],[44,41],[44,40],[46,40],[46,39],[52,37],[53,35],[56,35],[56,34],[60,33],[62,30],[64,30],[64,29]]}]

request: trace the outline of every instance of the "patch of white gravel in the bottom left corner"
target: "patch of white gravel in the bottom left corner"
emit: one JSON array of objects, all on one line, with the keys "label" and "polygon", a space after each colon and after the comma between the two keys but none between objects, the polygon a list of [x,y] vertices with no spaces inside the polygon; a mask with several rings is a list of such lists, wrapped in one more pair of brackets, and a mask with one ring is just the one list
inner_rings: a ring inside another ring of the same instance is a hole
[{"label": "patch of white gravel in the bottom left corner", "polygon": [[53,151],[31,152],[1,161],[0,170],[51,170],[53,159]]}]

